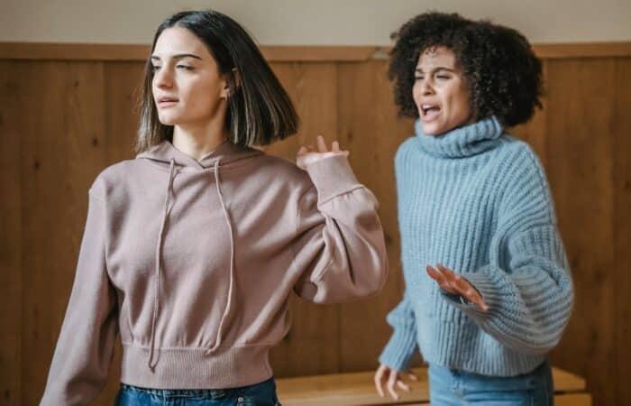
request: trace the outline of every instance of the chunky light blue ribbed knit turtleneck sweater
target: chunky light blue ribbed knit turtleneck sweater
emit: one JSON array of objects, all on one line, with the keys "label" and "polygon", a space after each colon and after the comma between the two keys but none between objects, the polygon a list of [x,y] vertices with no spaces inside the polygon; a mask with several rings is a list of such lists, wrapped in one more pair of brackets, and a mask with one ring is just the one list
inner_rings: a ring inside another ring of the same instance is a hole
[{"label": "chunky light blue ribbed knit turtleneck sweater", "polygon": [[[426,362],[477,374],[525,374],[559,341],[572,278],[541,163],[495,118],[407,139],[396,157],[406,292],[388,316],[380,362]],[[425,272],[441,263],[489,305],[445,294]]]}]

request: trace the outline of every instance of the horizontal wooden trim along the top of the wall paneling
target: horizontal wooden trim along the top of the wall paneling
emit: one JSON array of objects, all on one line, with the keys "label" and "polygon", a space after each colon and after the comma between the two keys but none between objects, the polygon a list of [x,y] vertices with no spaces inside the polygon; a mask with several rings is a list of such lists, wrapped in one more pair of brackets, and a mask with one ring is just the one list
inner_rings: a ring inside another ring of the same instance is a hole
[{"label": "horizontal wooden trim along the top of the wall paneling", "polygon": [[[534,44],[542,59],[631,57],[631,42]],[[389,47],[261,46],[270,62],[362,61],[387,59]],[[146,44],[0,42],[0,60],[145,60]]]}]

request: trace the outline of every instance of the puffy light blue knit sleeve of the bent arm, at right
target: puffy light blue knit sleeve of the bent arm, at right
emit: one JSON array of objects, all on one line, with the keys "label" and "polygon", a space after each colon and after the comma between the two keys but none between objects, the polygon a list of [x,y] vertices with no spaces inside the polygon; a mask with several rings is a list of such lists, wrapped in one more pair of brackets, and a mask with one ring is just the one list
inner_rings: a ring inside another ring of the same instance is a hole
[{"label": "puffy light blue knit sleeve of the bent arm, at right", "polygon": [[572,312],[572,277],[557,231],[553,201],[535,154],[525,150],[508,171],[490,261],[462,277],[480,291],[489,311],[444,295],[500,343],[544,354],[562,336]]}]

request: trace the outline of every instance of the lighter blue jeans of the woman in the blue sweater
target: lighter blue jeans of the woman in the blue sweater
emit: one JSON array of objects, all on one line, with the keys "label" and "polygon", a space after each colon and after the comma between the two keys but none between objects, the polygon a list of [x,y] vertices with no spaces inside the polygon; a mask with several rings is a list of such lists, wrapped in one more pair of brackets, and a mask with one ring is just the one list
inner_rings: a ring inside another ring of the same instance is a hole
[{"label": "lighter blue jeans of the woman in the blue sweater", "polygon": [[429,365],[432,406],[552,406],[553,396],[552,369],[547,361],[531,373],[509,377]]}]

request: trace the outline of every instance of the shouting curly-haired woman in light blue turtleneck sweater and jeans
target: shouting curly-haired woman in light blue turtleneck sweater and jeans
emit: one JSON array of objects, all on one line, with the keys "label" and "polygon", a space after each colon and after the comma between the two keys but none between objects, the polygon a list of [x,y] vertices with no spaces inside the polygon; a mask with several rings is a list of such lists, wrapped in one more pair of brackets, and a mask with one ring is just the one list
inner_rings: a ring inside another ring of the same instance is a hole
[{"label": "shouting curly-haired woman in light blue turtleneck sweater and jeans", "polygon": [[540,107],[541,63],[519,32],[420,14],[393,34],[406,291],[375,384],[396,388],[416,347],[433,405],[553,403],[547,353],[572,312],[572,278],[535,152],[505,128]]}]

